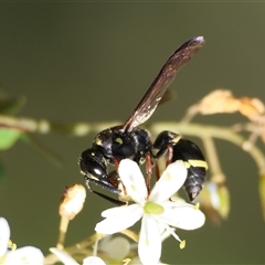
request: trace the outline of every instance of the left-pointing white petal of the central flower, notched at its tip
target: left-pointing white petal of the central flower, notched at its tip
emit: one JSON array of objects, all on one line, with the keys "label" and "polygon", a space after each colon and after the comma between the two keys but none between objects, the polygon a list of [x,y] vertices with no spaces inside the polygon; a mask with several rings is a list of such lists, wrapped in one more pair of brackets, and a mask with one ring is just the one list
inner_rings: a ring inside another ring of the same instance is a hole
[{"label": "left-pointing white petal of the central flower, notched at its tip", "polygon": [[132,226],[141,216],[142,208],[131,204],[113,208],[102,213],[106,219],[96,224],[95,231],[100,234],[114,234]]}]

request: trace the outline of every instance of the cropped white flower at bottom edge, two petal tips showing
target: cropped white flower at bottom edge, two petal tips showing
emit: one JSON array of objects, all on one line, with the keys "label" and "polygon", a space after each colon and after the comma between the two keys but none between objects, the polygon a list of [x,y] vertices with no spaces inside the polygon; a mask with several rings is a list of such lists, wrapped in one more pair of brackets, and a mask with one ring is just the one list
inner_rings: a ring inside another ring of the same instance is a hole
[{"label": "cropped white flower at bottom edge, two petal tips showing", "polygon": [[[72,256],[66,252],[56,247],[51,247],[50,251],[55,254],[59,259],[65,265],[80,265]],[[106,263],[97,256],[88,256],[83,261],[83,265],[106,265]]]}]

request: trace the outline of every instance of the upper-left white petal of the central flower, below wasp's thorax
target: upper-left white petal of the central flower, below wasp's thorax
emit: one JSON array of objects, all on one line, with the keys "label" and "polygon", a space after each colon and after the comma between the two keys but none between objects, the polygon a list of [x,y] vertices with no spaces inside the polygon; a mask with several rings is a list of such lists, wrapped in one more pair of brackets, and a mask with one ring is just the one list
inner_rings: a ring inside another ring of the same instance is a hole
[{"label": "upper-left white petal of the central flower, below wasp's thorax", "polygon": [[118,173],[126,188],[126,193],[135,202],[144,204],[147,198],[147,188],[139,166],[130,159],[123,159],[119,163]]}]

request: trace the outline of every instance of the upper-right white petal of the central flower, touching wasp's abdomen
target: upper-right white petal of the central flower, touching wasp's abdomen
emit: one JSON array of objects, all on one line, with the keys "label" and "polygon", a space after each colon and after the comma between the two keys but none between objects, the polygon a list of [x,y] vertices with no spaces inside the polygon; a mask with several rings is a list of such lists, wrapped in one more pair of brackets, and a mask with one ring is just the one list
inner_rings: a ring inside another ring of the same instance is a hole
[{"label": "upper-right white petal of the central flower, touching wasp's abdomen", "polygon": [[160,203],[172,197],[184,183],[187,168],[182,160],[170,163],[153,187],[149,201]]}]

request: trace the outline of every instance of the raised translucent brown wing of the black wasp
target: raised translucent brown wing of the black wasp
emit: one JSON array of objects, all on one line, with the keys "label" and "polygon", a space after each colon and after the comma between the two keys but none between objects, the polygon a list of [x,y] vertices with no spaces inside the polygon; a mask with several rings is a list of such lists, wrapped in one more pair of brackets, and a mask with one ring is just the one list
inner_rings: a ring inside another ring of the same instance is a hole
[{"label": "raised translucent brown wing of the black wasp", "polygon": [[167,88],[173,82],[177,72],[189,62],[203,46],[203,36],[193,38],[183,43],[166,62],[140,103],[123,126],[123,130],[131,131],[135,127],[150,118]]}]

